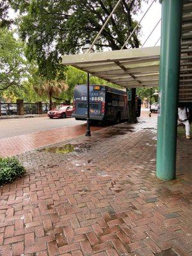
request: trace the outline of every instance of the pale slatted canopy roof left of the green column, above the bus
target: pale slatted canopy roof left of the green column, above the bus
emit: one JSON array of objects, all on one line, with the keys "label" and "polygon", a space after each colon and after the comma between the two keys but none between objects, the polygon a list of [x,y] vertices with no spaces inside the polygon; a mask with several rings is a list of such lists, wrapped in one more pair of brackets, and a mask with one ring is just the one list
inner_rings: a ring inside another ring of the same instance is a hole
[{"label": "pale slatted canopy roof left of the green column, above the bus", "polygon": [[160,47],[62,56],[71,65],[93,76],[126,88],[159,85]]}]

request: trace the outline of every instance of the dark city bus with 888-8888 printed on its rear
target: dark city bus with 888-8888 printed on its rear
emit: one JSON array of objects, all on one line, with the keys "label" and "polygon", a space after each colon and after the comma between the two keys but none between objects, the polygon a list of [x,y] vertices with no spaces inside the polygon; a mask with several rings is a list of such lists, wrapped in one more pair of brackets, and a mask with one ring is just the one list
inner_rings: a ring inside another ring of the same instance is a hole
[{"label": "dark city bus with 888-8888 printed on its rear", "polygon": [[[86,120],[87,85],[74,89],[74,113],[76,120]],[[90,85],[90,121],[116,122],[128,118],[127,92],[106,85]]]}]

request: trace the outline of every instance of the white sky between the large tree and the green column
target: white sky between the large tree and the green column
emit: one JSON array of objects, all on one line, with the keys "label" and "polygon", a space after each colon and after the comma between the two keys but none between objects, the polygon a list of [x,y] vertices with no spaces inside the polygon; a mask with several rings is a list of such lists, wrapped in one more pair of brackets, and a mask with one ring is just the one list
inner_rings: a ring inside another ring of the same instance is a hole
[{"label": "white sky between the large tree and the green column", "polygon": [[[140,20],[143,14],[146,12],[148,6],[152,3],[152,0],[148,1],[147,3],[142,4],[142,13],[138,13],[137,16],[135,16],[136,20]],[[161,4],[159,4],[159,1],[156,1],[154,4],[152,4],[151,8],[148,10],[147,14],[141,21],[141,26],[142,26],[142,36],[141,36],[141,44],[145,42],[145,39],[147,39],[147,36],[150,34],[150,32],[154,29],[156,26],[157,22],[161,19]],[[150,38],[148,38],[146,44],[143,47],[149,47],[149,46],[154,46],[161,36],[161,22],[155,29],[155,31],[152,33]],[[160,40],[157,45],[160,45]]]}]

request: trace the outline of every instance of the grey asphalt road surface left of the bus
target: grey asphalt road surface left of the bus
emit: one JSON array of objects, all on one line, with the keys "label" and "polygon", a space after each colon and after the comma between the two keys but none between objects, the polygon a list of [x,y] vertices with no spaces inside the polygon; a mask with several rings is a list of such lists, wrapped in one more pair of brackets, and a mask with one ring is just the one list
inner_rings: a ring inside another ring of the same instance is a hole
[{"label": "grey asphalt road surface left of the bus", "polygon": [[84,123],[85,121],[76,121],[75,118],[50,119],[47,116],[2,119],[0,120],[0,139]]}]

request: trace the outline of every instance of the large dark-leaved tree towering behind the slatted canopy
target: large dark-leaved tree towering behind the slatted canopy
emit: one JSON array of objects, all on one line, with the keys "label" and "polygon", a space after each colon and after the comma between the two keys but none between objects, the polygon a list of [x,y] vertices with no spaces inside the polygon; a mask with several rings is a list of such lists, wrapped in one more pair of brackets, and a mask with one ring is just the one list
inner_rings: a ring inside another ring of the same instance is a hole
[{"label": "large dark-leaved tree towering behind the slatted canopy", "polygon": [[[136,22],[132,15],[140,12],[141,1],[122,0],[108,26],[97,41],[97,49],[122,47]],[[13,0],[20,16],[20,36],[27,42],[26,54],[35,59],[40,73],[54,79],[61,68],[61,54],[79,52],[86,38],[93,40],[113,10],[116,0]],[[136,29],[127,47],[139,47]],[[61,72],[62,73],[62,72]],[[54,77],[55,76],[55,77]]]}]

